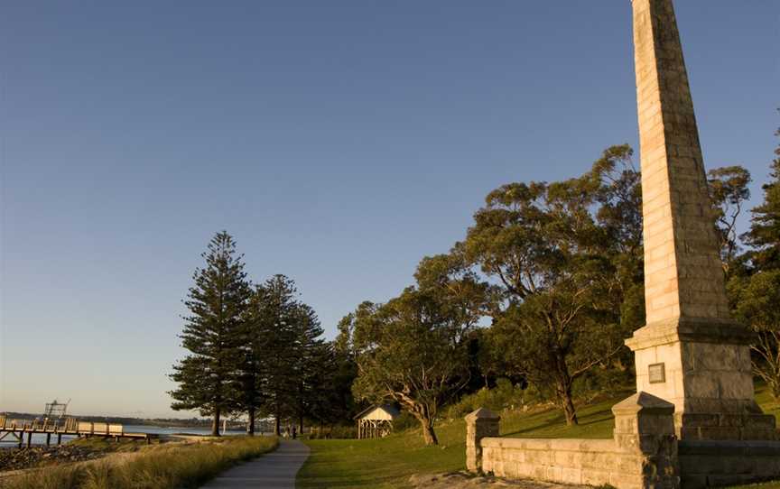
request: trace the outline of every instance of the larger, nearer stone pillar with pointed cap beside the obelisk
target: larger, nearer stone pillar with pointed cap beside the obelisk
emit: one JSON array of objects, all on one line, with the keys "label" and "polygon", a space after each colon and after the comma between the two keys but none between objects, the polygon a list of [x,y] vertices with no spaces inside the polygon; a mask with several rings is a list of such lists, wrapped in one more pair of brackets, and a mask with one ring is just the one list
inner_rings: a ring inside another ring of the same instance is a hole
[{"label": "larger, nearer stone pillar with pointed cap beside the obelisk", "polygon": [[674,435],[674,404],[647,392],[637,392],[612,408],[617,449],[635,454],[624,463],[636,464],[642,487],[677,489],[680,466]]}]

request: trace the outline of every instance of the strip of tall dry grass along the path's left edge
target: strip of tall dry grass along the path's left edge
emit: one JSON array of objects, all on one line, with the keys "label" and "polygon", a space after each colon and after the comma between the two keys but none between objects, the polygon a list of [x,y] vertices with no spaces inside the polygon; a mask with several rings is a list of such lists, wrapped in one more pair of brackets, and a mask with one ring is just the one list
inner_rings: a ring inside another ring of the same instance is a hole
[{"label": "strip of tall dry grass along the path's left edge", "polygon": [[8,477],[3,489],[174,489],[199,487],[238,462],[276,447],[276,438],[230,437],[152,447],[127,461],[53,466]]}]

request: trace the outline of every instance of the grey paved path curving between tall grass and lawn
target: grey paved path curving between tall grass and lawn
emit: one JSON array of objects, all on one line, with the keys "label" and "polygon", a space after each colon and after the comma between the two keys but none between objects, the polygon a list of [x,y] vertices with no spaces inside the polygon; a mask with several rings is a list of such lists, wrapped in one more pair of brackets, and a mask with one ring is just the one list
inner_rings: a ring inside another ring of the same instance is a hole
[{"label": "grey paved path curving between tall grass and lawn", "polygon": [[228,469],[202,489],[295,489],[295,475],[307,458],[309,447],[280,439],[275,451]]}]

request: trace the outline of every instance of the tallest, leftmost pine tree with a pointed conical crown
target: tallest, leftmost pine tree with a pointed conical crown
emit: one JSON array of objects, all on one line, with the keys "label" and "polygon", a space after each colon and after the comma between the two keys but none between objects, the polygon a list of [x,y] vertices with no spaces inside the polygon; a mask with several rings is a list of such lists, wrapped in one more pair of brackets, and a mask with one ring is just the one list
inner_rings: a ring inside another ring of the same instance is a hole
[{"label": "tallest, leftmost pine tree with a pointed conical crown", "polygon": [[190,315],[184,317],[180,337],[190,355],[173,365],[170,377],[179,386],[169,393],[172,409],[213,415],[211,434],[218,436],[221,415],[238,404],[235,373],[250,287],[243,255],[236,255],[236,243],[226,231],[211,239],[202,256],[206,266],[195,271],[195,285],[184,301]]}]

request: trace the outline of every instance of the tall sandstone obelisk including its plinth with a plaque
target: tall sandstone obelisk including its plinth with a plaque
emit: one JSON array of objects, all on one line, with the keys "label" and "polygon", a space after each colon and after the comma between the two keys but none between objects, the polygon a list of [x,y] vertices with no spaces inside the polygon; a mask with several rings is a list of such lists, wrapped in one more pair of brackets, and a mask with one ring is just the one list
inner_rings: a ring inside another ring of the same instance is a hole
[{"label": "tall sandstone obelisk including its plinth with a plaque", "polygon": [[645,235],[637,392],[675,407],[681,439],[774,439],[753,396],[749,342],[729,316],[672,0],[632,0]]}]

